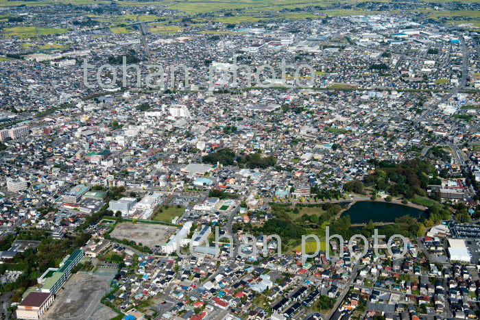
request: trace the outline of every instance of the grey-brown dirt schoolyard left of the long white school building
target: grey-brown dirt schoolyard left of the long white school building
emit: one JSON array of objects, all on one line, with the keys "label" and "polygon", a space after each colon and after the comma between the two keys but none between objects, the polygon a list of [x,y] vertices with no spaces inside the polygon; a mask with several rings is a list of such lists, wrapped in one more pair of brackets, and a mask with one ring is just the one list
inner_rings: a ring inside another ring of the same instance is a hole
[{"label": "grey-brown dirt schoolyard left of the long white school building", "polygon": [[119,240],[123,240],[124,238],[133,240],[137,244],[141,243],[153,249],[155,245],[165,243],[165,241],[175,233],[176,229],[176,227],[157,225],[154,223],[125,222],[117,225],[110,236]]}]

